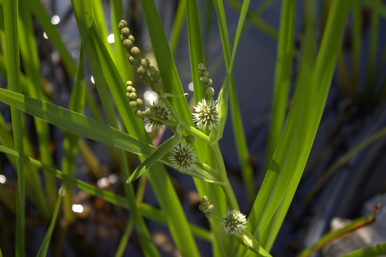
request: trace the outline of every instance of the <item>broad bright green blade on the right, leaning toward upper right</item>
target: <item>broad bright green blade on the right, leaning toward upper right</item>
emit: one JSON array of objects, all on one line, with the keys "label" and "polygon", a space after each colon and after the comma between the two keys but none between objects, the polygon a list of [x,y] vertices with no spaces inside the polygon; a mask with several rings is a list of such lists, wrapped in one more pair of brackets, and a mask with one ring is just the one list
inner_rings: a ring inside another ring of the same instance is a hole
[{"label": "broad bright green blade on the right, leaning toward upper right", "polygon": [[327,99],[349,7],[347,2],[334,2],[313,68],[312,86],[310,80],[298,83],[283,136],[249,216],[255,237],[263,238],[261,243],[266,241],[265,228],[276,210],[279,218],[273,226],[283,222],[304,170]]}]

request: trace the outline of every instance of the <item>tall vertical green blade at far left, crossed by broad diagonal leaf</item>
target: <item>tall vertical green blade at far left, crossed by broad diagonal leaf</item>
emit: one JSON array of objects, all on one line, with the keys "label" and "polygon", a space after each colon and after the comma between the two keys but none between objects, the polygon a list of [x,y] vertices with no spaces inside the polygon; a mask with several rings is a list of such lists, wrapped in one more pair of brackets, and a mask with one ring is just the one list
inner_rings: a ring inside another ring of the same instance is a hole
[{"label": "tall vertical green blade at far left, crossed by broad diagonal leaf", "polygon": [[[4,0],[4,31],[7,49],[7,77],[10,91],[20,92],[20,61],[18,37],[18,1]],[[23,137],[21,113],[11,108],[12,128],[14,133],[15,149],[23,154]],[[16,202],[16,239],[15,255],[24,256],[24,229],[25,229],[25,181],[24,161],[17,158],[17,202]]]}]

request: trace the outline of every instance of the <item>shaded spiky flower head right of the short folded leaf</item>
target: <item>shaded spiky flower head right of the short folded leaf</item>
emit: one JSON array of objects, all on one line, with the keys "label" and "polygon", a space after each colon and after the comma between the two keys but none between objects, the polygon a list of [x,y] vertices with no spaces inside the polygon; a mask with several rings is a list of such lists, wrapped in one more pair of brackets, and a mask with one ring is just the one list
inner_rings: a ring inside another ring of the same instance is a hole
[{"label": "shaded spiky flower head right of the short folded leaf", "polygon": [[181,144],[171,150],[169,161],[173,167],[180,172],[191,172],[196,167],[196,150],[189,148],[190,144]]}]

